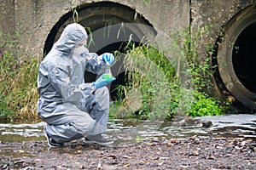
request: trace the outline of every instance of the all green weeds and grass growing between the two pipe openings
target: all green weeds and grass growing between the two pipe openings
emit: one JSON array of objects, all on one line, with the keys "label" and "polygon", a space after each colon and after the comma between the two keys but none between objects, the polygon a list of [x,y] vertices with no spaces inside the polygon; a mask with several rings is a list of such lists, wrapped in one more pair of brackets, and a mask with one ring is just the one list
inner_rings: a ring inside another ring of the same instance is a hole
[{"label": "all green weeds and grass growing between the two pipe openings", "polygon": [[134,48],[129,44],[130,51],[125,54],[129,83],[119,86],[119,99],[111,108],[111,116],[162,121],[177,113],[189,116],[224,114],[218,99],[209,96],[213,88],[212,42],[208,41],[204,49],[208,58],[200,56],[197,44],[208,34],[206,26],[195,34],[184,31],[174,35],[174,43],[182,47],[183,55],[171,60],[162,49],[146,45]]}]

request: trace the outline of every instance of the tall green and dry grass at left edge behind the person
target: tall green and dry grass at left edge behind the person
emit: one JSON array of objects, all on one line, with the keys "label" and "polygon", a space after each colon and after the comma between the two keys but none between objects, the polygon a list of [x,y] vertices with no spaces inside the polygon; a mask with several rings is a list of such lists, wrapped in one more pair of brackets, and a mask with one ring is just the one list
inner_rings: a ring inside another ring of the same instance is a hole
[{"label": "tall green and dry grass at left edge behind the person", "polygon": [[[18,36],[18,35],[17,35]],[[3,41],[0,60],[0,122],[37,120],[39,61],[13,50],[18,42]],[[15,48],[16,49],[16,48]]]}]

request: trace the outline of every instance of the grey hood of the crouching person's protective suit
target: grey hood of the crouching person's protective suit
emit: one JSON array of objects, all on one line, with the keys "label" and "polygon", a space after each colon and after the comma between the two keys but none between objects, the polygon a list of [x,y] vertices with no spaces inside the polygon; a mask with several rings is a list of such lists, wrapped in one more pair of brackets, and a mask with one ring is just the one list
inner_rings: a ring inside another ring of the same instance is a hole
[{"label": "grey hood of the crouching person's protective suit", "polygon": [[73,52],[73,48],[87,37],[84,27],[73,23],[65,28],[59,40],[55,42],[54,48],[64,54],[63,57],[68,57]]}]

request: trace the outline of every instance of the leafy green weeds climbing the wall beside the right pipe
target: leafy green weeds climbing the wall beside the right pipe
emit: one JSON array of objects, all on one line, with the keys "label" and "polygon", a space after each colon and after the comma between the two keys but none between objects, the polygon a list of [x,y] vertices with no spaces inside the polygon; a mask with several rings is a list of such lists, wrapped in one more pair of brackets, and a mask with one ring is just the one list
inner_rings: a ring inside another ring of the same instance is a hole
[{"label": "leafy green weeds climbing the wall beside the right pipe", "polygon": [[[179,34],[185,40],[183,53],[189,65],[191,79],[188,83],[193,84],[193,98],[190,101],[189,116],[218,116],[224,114],[224,107],[218,99],[211,97],[213,87],[212,77],[212,54],[214,42],[208,26],[201,27],[197,31],[183,31]],[[202,48],[203,47],[203,48]]]}]

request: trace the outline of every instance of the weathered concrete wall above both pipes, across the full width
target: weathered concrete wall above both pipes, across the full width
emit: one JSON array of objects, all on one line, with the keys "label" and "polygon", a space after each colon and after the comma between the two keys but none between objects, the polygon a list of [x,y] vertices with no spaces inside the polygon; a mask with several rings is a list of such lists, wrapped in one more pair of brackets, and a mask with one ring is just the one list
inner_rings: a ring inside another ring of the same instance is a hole
[{"label": "weathered concrete wall above both pipes, across the full width", "polygon": [[[67,0],[3,0],[0,4],[0,29],[4,34],[8,31],[21,33],[21,48],[30,48],[34,53],[42,53],[44,42],[49,31],[64,14],[76,5],[103,2],[101,0],[78,0],[71,3]],[[230,18],[253,1],[240,0],[111,0],[136,9],[138,14],[151,23],[157,31],[171,34],[191,25],[199,28],[213,25],[218,31]],[[190,12],[191,10],[191,12]]]}]

